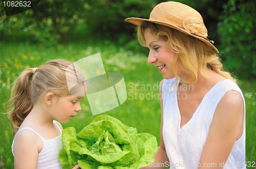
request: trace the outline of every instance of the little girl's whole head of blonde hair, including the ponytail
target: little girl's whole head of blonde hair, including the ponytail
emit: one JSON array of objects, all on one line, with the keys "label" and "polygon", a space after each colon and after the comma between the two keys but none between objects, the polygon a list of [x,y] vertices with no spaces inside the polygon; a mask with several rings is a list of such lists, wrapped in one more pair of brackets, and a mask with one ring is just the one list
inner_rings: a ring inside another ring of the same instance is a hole
[{"label": "little girl's whole head of blonde hair, including the ponytail", "polygon": [[[32,110],[33,105],[38,101],[42,102],[44,100],[42,98],[47,93],[52,92],[58,97],[68,96],[71,93],[68,89],[67,78],[80,81],[85,79],[85,77],[77,76],[75,71],[67,69],[71,65],[69,61],[52,60],[39,67],[34,75],[33,68],[29,68],[18,76],[12,88],[11,99],[6,104],[14,135]],[[67,70],[69,76],[66,78]]]}]

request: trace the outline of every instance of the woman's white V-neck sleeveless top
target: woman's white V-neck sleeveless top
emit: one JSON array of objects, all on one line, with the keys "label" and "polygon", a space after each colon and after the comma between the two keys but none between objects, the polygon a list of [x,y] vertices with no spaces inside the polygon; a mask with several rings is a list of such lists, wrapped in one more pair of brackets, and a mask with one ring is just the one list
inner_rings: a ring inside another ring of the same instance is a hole
[{"label": "woman's white V-neck sleeveless top", "polygon": [[[179,84],[178,80],[178,84]],[[177,88],[168,94],[175,85],[175,78],[165,79],[162,86],[163,94],[163,140],[170,162],[170,168],[198,168],[203,147],[211,126],[215,109],[229,91],[238,91],[244,101],[243,135],[236,140],[224,166],[223,161],[217,166],[227,168],[246,168],[245,163],[245,100],[240,88],[230,79],[218,82],[204,96],[193,117],[180,128],[180,111],[177,100]],[[182,97],[179,95],[179,97]],[[185,96],[183,96],[184,98]],[[203,164],[201,164],[203,165]],[[206,166],[206,165],[205,165]]]}]

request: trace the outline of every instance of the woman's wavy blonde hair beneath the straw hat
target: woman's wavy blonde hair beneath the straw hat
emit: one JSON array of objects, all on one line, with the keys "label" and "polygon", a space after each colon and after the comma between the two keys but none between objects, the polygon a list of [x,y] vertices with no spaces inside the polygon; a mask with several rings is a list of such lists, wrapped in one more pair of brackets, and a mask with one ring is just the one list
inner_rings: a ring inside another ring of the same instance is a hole
[{"label": "woman's wavy blonde hair beneath the straw hat", "polygon": [[[186,35],[180,31],[172,29],[164,25],[143,21],[137,27],[137,38],[142,46],[146,46],[144,32],[150,29],[150,33],[157,39],[166,41],[166,48],[172,49],[176,52],[176,58],[173,63],[173,71],[176,77],[175,87],[178,85],[177,61],[180,60],[191,77],[185,83],[193,83],[198,79],[198,70],[207,77],[203,72],[204,69],[209,68],[221,76],[231,79],[237,83],[237,79],[233,78],[229,72],[223,71],[222,63],[218,55],[203,41]],[[201,80],[201,79],[200,79]],[[172,91],[171,90],[171,91]]]}]

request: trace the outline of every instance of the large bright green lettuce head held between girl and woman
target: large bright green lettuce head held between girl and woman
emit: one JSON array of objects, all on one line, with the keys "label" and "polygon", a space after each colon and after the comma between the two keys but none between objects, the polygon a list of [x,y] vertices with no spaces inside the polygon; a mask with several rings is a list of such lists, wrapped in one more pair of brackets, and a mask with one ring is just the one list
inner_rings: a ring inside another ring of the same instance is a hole
[{"label": "large bright green lettuce head held between girl and woman", "polygon": [[59,159],[63,169],[137,169],[154,161],[157,152],[156,137],[137,134],[119,120],[102,115],[84,127],[78,134],[73,127],[62,130],[62,150]]}]

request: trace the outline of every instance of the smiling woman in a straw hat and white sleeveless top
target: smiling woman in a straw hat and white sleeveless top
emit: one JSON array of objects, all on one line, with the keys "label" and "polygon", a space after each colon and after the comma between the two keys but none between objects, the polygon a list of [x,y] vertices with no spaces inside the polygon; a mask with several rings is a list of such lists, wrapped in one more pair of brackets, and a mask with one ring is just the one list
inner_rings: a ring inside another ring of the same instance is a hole
[{"label": "smiling woman in a straw hat and white sleeveless top", "polygon": [[[138,25],[159,86],[161,144],[157,168],[246,168],[244,97],[207,39],[202,16],[178,2],[157,5]],[[145,168],[151,168],[150,166]]]}]

